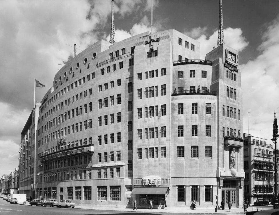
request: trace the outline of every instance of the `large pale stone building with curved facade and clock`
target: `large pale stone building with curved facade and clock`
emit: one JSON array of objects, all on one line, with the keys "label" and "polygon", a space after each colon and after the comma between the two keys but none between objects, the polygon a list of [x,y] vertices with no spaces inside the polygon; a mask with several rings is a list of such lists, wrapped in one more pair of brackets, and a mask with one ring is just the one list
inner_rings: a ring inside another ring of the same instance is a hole
[{"label": "large pale stone building with curved facade and clock", "polygon": [[241,79],[227,49],[238,56],[221,45],[200,59],[200,43],[170,29],[101,40],[74,57],[41,102],[36,198],[212,207],[218,195],[242,204]]}]

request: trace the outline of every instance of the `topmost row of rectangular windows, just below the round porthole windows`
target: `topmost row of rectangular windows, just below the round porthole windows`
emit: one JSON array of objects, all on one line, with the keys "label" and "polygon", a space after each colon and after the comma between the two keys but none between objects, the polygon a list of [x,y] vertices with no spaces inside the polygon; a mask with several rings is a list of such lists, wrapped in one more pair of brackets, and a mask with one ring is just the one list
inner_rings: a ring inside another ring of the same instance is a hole
[{"label": "topmost row of rectangular windows, just below the round porthole windows", "polygon": [[94,79],[94,78],[95,78],[95,72],[91,73],[91,75],[89,74],[87,76],[84,76],[82,79],[78,79],[77,81],[74,81],[73,83],[71,83],[67,87],[64,87],[64,89],[61,89],[61,91],[57,92],[55,95],[53,95],[53,97],[51,97],[49,100],[47,100],[47,103],[42,105],[42,107],[40,108],[40,114],[43,112],[43,110],[45,110],[45,108],[48,105],[50,105],[53,101],[58,99],[64,93],[70,91],[74,87],[77,87],[77,86],[81,85],[81,80],[82,80],[82,83],[85,83],[86,81],[90,81],[90,79]]}]

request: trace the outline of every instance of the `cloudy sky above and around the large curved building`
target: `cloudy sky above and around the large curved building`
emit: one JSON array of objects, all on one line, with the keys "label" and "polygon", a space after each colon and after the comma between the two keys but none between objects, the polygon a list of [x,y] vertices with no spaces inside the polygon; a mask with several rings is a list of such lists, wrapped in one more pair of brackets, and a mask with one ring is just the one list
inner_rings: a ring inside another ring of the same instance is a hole
[{"label": "cloudy sky above and around the large curved building", "polygon": [[[116,41],[150,31],[151,0],[115,0]],[[201,59],[217,44],[218,0],[154,0],[155,31],[176,29],[201,43]],[[279,1],[223,0],[225,43],[240,55],[244,132],[272,138],[279,115]],[[109,40],[110,0],[0,0],[0,176],[18,167],[20,133],[55,73],[99,39]]]}]

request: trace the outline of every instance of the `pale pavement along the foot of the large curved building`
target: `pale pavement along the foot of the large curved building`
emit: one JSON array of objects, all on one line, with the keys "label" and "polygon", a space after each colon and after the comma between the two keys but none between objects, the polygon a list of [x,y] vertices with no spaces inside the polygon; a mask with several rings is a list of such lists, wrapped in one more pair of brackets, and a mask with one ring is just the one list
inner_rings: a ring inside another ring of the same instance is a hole
[{"label": "pale pavement along the foot of the large curved building", "polygon": [[[19,202],[18,204],[24,205],[22,202]],[[29,202],[26,203],[27,206],[30,206]],[[166,210],[164,209],[142,209],[138,208],[137,210],[133,210],[133,208],[111,208],[110,207],[95,207],[95,206],[75,206],[75,208],[79,209],[88,209],[88,210],[110,210],[110,211],[125,211],[125,212],[147,212],[147,213],[183,213],[183,214],[215,214],[215,208],[200,208],[197,207],[196,210],[191,210],[189,208],[182,208],[182,207],[177,207],[177,208],[172,208],[172,207],[167,207]],[[248,207],[248,211],[252,211],[253,209],[257,210],[257,206],[250,206]],[[264,208],[259,208],[260,210],[268,210],[268,209],[273,209],[273,205],[266,206]],[[244,214],[244,211],[242,208],[232,208],[231,212],[229,212],[228,208],[225,208],[224,210],[217,210],[218,214],[231,214],[231,215],[239,215],[239,214]]]}]

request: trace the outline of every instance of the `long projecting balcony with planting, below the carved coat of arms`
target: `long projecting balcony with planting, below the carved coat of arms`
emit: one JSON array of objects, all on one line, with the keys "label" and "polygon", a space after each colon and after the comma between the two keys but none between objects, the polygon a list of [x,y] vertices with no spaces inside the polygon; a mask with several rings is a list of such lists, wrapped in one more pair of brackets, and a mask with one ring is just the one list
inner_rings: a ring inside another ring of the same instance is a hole
[{"label": "long projecting balcony with planting, below the carved coat of arms", "polygon": [[61,158],[81,156],[85,154],[93,154],[94,145],[77,146],[69,149],[64,149],[61,151],[53,152],[41,157],[41,162],[48,162],[51,160],[58,160]]}]

